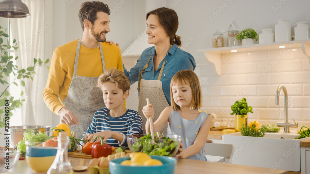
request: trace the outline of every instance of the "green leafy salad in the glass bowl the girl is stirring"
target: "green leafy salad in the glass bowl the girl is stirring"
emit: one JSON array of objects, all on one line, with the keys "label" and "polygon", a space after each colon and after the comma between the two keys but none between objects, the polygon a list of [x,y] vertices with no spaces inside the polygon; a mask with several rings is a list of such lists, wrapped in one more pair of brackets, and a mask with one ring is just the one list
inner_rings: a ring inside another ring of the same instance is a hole
[{"label": "green leafy salad in the glass bowl the girl is stirring", "polygon": [[179,142],[175,141],[173,138],[162,137],[161,139],[158,139],[156,134],[154,137],[157,145],[152,143],[151,134],[148,134],[147,136],[138,138],[140,140],[132,145],[132,149],[135,152],[162,156],[174,156],[174,152],[178,151],[177,147],[179,146]]}]

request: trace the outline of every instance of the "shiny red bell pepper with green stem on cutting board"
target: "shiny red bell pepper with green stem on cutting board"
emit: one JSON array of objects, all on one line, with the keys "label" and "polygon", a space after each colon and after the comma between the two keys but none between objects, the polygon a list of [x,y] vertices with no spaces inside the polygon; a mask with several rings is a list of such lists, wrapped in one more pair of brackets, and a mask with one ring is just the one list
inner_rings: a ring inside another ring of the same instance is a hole
[{"label": "shiny red bell pepper with green stem on cutting board", "polygon": [[96,136],[95,139],[100,138],[101,144],[94,143],[91,149],[91,158],[100,158],[102,156],[107,157],[112,154],[112,146],[104,144],[103,139],[100,136]]}]

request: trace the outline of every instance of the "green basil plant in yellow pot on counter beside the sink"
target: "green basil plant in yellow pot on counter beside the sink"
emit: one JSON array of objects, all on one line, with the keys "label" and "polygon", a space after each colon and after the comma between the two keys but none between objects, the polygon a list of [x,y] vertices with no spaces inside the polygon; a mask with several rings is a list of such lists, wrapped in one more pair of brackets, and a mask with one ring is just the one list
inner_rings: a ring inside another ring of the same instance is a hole
[{"label": "green basil plant in yellow pot on counter beside the sink", "polygon": [[235,104],[231,106],[232,113],[230,115],[235,115],[235,130],[236,132],[240,132],[240,127],[242,127],[242,124],[247,125],[247,118],[248,112],[253,113],[252,106],[248,106],[248,103],[246,103],[246,98],[243,97],[243,99],[237,100]]}]

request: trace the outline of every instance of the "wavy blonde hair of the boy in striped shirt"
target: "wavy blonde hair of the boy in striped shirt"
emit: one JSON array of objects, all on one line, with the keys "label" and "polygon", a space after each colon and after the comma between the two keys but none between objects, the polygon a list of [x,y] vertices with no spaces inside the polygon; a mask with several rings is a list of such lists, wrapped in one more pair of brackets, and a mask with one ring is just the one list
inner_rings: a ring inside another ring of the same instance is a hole
[{"label": "wavy blonde hair of the boy in striped shirt", "polygon": [[111,68],[106,70],[101,74],[97,81],[97,87],[102,89],[104,82],[113,82],[116,84],[116,87],[121,89],[123,93],[127,90],[130,90],[130,81],[128,77],[121,71],[116,68]]}]

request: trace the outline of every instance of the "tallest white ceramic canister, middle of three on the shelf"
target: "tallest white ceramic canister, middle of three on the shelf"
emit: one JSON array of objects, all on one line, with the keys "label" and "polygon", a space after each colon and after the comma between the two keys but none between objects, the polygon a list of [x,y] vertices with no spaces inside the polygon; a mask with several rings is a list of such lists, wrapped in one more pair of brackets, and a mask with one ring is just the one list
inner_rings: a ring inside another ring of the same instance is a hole
[{"label": "tallest white ceramic canister, middle of three on the shelf", "polygon": [[279,19],[275,25],[276,42],[291,41],[291,25],[288,19]]}]

